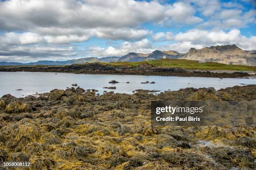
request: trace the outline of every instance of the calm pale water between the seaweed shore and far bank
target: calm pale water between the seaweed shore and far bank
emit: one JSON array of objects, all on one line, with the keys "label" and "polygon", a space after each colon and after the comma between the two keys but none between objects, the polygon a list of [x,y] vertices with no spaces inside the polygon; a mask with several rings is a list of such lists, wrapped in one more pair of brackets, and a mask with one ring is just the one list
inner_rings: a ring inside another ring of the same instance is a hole
[{"label": "calm pale water between the seaweed shore and far bank", "polygon": [[[120,83],[109,84],[111,80]],[[154,81],[155,84],[141,84]],[[130,83],[126,83],[130,82]],[[167,77],[146,75],[85,75],[54,72],[0,72],[0,97],[11,94],[15,97],[32,95],[36,92],[49,92],[52,89],[66,89],[77,83],[86,89],[97,89],[102,94],[104,90],[132,94],[133,90],[179,90],[186,87],[214,87],[216,90],[235,85],[256,84],[256,79],[244,78],[207,78],[207,77]],[[102,87],[115,86],[116,89]],[[16,90],[22,89],[22,90]]]}]

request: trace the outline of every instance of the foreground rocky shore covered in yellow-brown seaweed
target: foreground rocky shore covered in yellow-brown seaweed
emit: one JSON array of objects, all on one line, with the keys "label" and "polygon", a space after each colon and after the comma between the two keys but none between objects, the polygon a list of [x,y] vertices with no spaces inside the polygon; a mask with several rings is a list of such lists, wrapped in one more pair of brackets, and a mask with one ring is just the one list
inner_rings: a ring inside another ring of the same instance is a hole
[{"label": "foreground rocky shore covered in yellow-brown seaweed", "polygon": [[[33,170],[255,169],[256,128],[151,126],[151,100],[255,102],[256,85],[97,96],[80,87],[0,98],[0,162]],[[1,169],[1,168],[0,168]]]}]

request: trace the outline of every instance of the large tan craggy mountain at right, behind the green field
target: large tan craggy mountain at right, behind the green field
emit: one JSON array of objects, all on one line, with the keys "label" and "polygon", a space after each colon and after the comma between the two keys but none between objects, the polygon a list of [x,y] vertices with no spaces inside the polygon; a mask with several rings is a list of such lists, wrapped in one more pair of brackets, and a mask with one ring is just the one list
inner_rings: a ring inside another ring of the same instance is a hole
[{"label": "large tan craggy mountain at right, behind the green field", "polygon": [[255,52],[247,52],[236,45],[217,45],[202,49],[190,48],[185,55],[186,60],[205,60],[227,64],[233,62],[238,65],[256,65]]}]

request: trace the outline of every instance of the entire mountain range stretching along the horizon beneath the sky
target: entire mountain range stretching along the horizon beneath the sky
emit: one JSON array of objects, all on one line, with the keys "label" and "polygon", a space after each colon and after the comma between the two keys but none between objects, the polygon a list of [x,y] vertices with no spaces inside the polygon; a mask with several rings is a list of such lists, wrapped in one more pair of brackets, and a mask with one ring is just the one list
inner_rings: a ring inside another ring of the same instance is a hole
[{"label": "entire mountain range stretching along the horizon beneath the sky", "polygon": [[138,62],[143,60],[159,60],[167,59],[186,59],[186,60],[204,60],[206,62],[220,62],[224,64],[233,63],[238,65],[256,65],[256,50],[245,51],[236,45],[217,45],[204,47],[202,49],[190,48],[187,53],[177,51],[161,51],[155,50],[150,54],[142,54],[137,52],[129,52],[122,57],[87,57],[76,60],[67,61],[38,61],[29,63],[20,62],[0,62],[0,65],[72,65],[86,62]]}]

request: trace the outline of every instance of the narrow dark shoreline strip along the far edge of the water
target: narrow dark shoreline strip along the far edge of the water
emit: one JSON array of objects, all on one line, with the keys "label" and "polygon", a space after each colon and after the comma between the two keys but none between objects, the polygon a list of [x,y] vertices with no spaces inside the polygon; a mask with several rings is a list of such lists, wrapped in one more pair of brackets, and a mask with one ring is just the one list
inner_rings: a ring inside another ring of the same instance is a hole
[{"label": "narrow dark shoreline strip along the far edge of the water", "polygon": [[241,78],[254,77],[255,74],[247,72],[228,70],[209,71],[193,71],[184,70],[180,67],[171,68],[154,68],[154,69],[112,69],[112,70],[90,70],[84,68],[66,67],[0,67],[0,72],[63,72],[74,74],[101,74],[101,75],[159,75],[159,76],[175,76],[175,77],[216,77],[216,78]]}]

